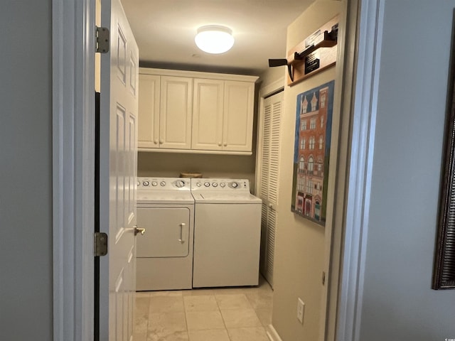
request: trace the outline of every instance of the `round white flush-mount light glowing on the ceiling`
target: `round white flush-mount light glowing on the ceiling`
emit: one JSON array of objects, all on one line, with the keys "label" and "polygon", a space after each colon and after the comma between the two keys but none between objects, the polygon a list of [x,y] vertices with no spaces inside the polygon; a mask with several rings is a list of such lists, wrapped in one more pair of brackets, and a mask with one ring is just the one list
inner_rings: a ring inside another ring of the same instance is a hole
[{"label": "round white flush-mount light glowing on the ceiling", "polygon": [[194,41],[200,50],[213,54],[225,53],[234,45],[232,30],[225,26],[200,27]]}]

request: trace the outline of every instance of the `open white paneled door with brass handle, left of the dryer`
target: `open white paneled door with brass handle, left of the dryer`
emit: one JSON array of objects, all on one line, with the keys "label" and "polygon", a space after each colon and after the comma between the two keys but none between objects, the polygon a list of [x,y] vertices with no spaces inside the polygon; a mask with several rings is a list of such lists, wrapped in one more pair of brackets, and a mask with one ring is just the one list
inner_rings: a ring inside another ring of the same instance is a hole
[{"label": "open white paneled door with brass handle, left of the dryer", "polygon": [[102,1],[109,53],[101,60],[100,340],[131,341],[135,291],[139,50],[119,0]]}]

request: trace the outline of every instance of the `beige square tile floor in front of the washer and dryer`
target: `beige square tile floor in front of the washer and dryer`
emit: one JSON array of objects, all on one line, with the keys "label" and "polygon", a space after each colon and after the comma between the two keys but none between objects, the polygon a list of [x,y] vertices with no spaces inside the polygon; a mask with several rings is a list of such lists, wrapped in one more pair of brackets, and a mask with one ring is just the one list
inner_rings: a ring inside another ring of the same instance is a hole
[{"label": "beige square tile floor in front of the washer and dryer", "polygon": [[252,288],[136,293],[134,341],[269,341],[273,292]]}]

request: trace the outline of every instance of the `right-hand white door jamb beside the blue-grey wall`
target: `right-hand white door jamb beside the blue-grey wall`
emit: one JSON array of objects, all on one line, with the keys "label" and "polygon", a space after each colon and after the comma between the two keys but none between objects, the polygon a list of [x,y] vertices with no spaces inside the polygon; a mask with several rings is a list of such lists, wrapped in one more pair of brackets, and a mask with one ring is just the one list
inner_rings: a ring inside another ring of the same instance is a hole
[{"label": "right-hand white door jamb beside the blue-grey wall", "polygon": [[360,340],[384,3],[385,0],[347,0],[346,58],[350,70],[343,75],[343,82],[350,82],[350,87],[343,94],[342,105],[350,112],[350,153],[343,184],[344,209],[337,216],[343,221],[336,232],[342,253],[340,259],[332,260],[330,271],[340,279],[338,288],[332,290],[338,293],[338,299],[329,306],[332,318],[328,319],[328,340]]}]

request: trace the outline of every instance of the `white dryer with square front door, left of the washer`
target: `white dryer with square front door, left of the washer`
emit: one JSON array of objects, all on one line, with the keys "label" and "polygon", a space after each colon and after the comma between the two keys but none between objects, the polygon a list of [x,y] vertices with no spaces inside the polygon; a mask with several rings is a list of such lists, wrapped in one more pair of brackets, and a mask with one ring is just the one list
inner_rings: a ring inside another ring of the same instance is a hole
[{"label": "white dryer with square front door, left of the washer", "polygon": [[190,179],[138,179],[137,291],[191,289],[193,224]]}]

